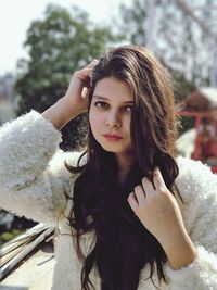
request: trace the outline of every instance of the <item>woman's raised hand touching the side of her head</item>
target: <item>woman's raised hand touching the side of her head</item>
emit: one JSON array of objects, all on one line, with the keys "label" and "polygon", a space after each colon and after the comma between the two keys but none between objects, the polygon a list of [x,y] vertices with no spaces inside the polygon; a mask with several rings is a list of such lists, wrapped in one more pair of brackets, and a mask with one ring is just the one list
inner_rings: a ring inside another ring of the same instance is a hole
[{"label": "woman's raised hand touching the side of her head", "polygon": [[86,67],[73,74],[65,99],[68,99],[79,113],[86,112],[88,109],[89,100],[87,91],[91,87],[92,71],[98,64],[98,60],[93,60]]}]

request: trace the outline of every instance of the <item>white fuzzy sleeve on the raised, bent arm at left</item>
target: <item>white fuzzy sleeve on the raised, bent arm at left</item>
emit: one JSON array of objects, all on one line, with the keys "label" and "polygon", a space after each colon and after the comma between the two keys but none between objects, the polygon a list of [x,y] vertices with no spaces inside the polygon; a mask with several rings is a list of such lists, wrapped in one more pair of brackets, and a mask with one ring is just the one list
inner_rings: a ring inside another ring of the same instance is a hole
[{"label": "white fuzzy sleeve on the raised, bent arm at left", "polygon": [[64,192],[75,179],[65,168],[61,140],[52,123],[34,110],[0,128],[0,207],[56,225],[66,205]]}]

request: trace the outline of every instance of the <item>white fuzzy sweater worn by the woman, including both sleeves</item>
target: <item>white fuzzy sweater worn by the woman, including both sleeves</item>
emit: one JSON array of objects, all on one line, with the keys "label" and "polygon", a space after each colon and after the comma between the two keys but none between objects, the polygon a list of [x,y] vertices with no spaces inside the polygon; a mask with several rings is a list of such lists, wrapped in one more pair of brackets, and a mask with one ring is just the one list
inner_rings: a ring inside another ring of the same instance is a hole
[{"label": "white fuzzy sweater worn by the woman, including both sleeves", "polygon": [[[77,177],[65,168],[64,160],[76,165],[79,153],[63,153],[60,142],[61,133],[36,111],[1,127],[0,207],[59,229],[52,290],[80,290],[81,264],[65,218],[72,204],[64,196],[73,193]],[[178,270],[167,262],[168,285],[159,286],[156,274],[153,280],[161,290],[217,290],[217,176],[201,162],[183,157],[177,162],[180,174],[176,184],[184,204],[177,201],[197,256]],[[93,234],[82,238],[86,253],[92,241]],[[145,279],[149,274],[148,267],[141,270],[138,290],[155,290]],[[100,290],[95,269],[90,278]]]}]

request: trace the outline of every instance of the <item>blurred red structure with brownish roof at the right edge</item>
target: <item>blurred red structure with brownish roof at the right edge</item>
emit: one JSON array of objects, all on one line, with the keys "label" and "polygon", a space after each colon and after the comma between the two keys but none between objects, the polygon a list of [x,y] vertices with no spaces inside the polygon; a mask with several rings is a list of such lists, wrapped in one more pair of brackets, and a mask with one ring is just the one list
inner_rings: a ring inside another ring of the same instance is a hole
[{"label": "blurred red structure with brownish roof at the right edge", "polygon": [[191,157],[208,164],[217,173],[217,89],[199,88],[181,106],[180,116],[194,118],[196,138]]}]

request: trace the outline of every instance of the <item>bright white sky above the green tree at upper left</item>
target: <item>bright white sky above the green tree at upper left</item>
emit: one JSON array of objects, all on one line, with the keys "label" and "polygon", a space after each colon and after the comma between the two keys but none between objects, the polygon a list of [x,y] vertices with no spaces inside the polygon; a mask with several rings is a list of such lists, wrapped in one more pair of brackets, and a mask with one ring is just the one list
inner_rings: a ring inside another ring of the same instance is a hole
[{"label": "bright white sky above the green tree at upper left", "polygon": [[0,75],[14,72],[16,61],[26,56],[23,43],[30,23],[42,16],[49,3],[69,8],[77,4],[92,21],[108,23],[119,3],[131,0],[0,0]]}]

